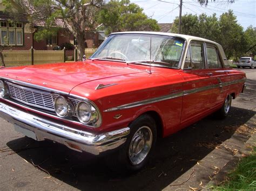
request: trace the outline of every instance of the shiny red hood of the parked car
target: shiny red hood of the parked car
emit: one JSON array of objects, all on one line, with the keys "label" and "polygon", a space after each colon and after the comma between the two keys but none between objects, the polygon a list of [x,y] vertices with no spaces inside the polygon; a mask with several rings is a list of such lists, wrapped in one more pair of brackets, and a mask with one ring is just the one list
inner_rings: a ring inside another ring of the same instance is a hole
[{"label": "shiny red hood of the parked car", "polygon": [[0,76],[69,93],[74,87],[85,82],[142,72],[100,63],[68,62],[4,68],[0,70]]}]

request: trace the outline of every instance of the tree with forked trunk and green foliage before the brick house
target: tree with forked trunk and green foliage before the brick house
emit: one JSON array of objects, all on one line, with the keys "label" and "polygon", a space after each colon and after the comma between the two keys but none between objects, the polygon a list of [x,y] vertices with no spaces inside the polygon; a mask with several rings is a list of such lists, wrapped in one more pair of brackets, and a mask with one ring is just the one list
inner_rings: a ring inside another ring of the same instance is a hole
[{"label": "tree with forked trunk and green foliage before the brick house", "polygon": [[77,39],[80,58],[87,34],[97,26],[97,13],[103,3],[103,0],[4,0],[6,11],[14,18],[25,17],[31,26],[35,22],[43,23],[35,34],[37,40],[56,34],[59,29],[56,23],[64,22]]}]

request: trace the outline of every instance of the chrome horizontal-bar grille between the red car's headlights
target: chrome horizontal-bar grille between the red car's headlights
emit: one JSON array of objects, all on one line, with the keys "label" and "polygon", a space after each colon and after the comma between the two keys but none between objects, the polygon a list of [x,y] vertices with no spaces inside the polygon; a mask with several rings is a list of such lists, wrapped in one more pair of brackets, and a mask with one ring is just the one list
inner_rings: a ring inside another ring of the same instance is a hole
[{"label": "chrome horizontal-bar grille between the red car's headlights", "polygon": [[51,94],[48,91],[19,86],[10,82],[7,82],[7,84],[10,97],[14,100],[32,105],[33,107],[54,111],[54,101],[58,94]]}]

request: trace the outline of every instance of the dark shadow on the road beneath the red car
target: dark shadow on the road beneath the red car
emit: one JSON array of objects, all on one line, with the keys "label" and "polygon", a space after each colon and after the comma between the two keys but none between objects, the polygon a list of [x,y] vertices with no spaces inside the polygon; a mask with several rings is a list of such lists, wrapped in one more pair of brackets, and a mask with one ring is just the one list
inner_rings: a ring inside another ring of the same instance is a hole
[{"label": "dark shadow on the road beneath the red car", "polygon": [[[36,142],[23,137],[7,145],[41,171],[77,189],[161,190],[216,146],[231,138],[239,126],[250,120],[255,113],[232,107],[223,121],[206,117],[174,135],[159,139],[149,164],[135,174],[112,172],[102,157],[72,151],[48,141]],[[246,136],[241,138],[246,141]],[[165,177],[159,178],[162,175]]]}]

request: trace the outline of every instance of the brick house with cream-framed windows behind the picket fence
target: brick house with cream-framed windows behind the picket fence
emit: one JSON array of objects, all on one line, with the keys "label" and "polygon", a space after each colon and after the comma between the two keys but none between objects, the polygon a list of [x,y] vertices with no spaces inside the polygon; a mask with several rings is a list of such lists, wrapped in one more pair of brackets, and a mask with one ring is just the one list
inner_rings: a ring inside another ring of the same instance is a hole
[{"label": "brick house with cream-framed windows behind the picket fence", "polygon": [[[20,18],[19,22],[10,22],[12,18],[3,10],[5,9],[2,0],[0,0],[0,43],[1,45],[8,44],[11,49],[55,49],[58,46],[62,46],[64,43],[76,44],[75,38],[65,28],[62,19],[56,19],[56,26],[61,29],[56,36],[52,36],[49,39],[36,41],[34,36],[39,27],[44,26],[44,22],[35,22],[31,26],[25,18]],[[87,34],[85,46],[87,48],[98,47],[102,43],[102,39],[98,32],[90,32]],[[70,52],[70,51],[69,51]],[[68,53],[68,52],[67,52]],[[69,54],[73,54],[71,51]]]}]

